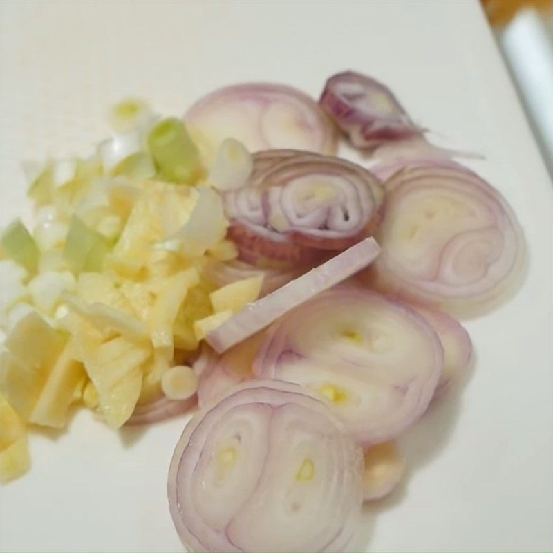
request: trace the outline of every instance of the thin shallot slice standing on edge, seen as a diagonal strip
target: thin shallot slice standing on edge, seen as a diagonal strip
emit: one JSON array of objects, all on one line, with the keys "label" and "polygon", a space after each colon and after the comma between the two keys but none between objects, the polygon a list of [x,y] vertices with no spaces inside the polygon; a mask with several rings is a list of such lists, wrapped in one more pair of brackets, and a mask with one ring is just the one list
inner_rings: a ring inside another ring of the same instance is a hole
[{"label": "thin shallot slice standing on edge, seen as a diagonal strip", "polygon": [[232,348],[304,301],[359,272],[377,257],[379,251],[375,240],[366,238],[282,288],[250,303],[209,332],[207,343],[218,353]]}]

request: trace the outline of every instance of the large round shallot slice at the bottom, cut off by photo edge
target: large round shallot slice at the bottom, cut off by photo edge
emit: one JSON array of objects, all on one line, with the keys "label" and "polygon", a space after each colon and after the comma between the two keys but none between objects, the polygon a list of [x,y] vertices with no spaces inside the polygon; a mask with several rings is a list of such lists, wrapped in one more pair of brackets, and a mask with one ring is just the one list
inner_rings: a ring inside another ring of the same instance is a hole
[{"label": "large round shallot slice at the bottom, cut off by photo edge", "polygon": [[187,424],[167,489],[194,552],[355,550],[363,453],[299,386],[245,382]]}]

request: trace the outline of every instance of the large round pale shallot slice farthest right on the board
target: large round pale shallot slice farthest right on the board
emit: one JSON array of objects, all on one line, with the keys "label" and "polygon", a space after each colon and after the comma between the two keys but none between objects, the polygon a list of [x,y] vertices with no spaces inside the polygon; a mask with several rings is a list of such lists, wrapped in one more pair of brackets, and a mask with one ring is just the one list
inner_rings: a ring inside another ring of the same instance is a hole
[{"label": "large round pale shallot slice farthest right on the board", "polygon": [[522,229],[503,196],[460,165],[406,167],[386,182],[371,285],[459,315],[512,292],[525,268]]}]

